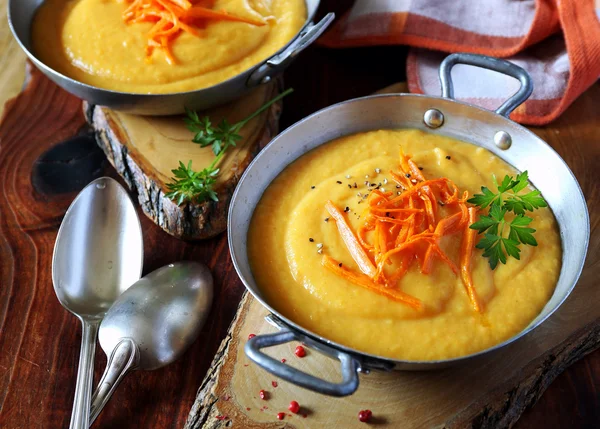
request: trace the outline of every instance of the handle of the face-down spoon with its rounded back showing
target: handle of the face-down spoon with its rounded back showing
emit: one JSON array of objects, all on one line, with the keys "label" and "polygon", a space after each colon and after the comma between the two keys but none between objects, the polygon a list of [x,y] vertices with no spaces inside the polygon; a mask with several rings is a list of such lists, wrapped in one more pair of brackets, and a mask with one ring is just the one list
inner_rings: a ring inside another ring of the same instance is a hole
[{"label": "handle of the face-down spoon with its rounded back showing", "polygon": [[113,349],[106,369],[98,383],[98,388],[92,396],[90,411],[90,426],[98,417],[111,395],[129,370],[137,367],[139,363],[139,350],[131,338],[123,338]]}]

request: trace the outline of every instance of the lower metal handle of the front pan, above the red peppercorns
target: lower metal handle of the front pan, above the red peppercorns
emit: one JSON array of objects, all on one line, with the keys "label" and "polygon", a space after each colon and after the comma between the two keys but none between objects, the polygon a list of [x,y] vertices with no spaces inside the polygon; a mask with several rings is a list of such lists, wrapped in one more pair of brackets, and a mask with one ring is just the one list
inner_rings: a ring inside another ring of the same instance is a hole
[{"label": "lower metal handle of the front pan, above the red peppercorns", "polygon": [[261,349],[265,347],[272,347],[279,344],[289,343],[291,341],[302,341],[305,343],[312,342],[308,337],[305,337],[300,333],[291,330],[283,330],[275,334],[257,335],[256,337],[248,340],[246,346],[244,347],[244,351],[246,352],[246,356],[248,356],[252,362],[256,363],[261,368],[266,369],[271,374],[276,375],[277,377],[289,381],[297,386],[312,390],[313,392],[323,393],[330,396],[348,396],[353,394],[356,389],[358,389],[358,371],[360,369],[360,364],[358,360],[350,356],[348,353],[344,353],[325,345],[319,345],[319,349],[321,351],[339,360],[342,365],[342,382],[331,383],[302,372],[298,369],[292,368],[291,366],[286,365],[277,359],[273,359],[261,351]]}]

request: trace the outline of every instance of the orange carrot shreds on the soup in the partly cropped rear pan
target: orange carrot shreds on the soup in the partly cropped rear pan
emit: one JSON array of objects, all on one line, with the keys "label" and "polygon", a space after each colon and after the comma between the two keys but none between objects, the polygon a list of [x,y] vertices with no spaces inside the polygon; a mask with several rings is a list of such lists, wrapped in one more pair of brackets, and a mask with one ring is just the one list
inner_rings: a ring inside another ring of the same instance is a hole
[{"label": "orange carrot shreds on the soup in the partly cropped rear pan", "polygon": [[161,49],[167,62],[175,64],[172,44],[182,34],[201,37],[198,32],[208,21],[233,21],[263,26],[265,22],[233,15],[224,10],[214,10],[213,0],[126,0],[129,3],[122,13],[125,24],[143,22],[154,25],[147,34],[146,59],[150,61],[154,49]]}]

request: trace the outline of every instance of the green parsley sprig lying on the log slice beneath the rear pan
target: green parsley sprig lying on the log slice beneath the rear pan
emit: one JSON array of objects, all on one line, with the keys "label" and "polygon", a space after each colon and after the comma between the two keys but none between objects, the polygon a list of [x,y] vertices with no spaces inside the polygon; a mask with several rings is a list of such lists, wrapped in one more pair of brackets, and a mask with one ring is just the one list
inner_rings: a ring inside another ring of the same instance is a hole
[{"label": "green parsley sprig lying on the log slice beneath the rear pan", "polygon": [[179,161],[179,167],[171,170],[174,177],[171,178],[170,183],[167,183],[169,192],[166,197],[176,201],[177,205],[181,205],[186,201],[197,203],[208,200],[218,201],[219,198],[214,189],[214,184],[219,175],[217,164],[223,158],[227,149],[235,146],[236,142],[242,139],[239,132],[244,125],[293,91],[292,88],[287,89],[263,104],[250,116],[235,124],[230,124],[227,119],[223,119],[217,126],[213,126],[208,116],[201,118],[197,112],[186,108],[187,116],[183,120],[188,129],[195,133],[192,142],[199,144],[200,147],[210,146],[215,154],[215,159],[201,171],[193,170],[192,161],[189,161],[187,165]]}]

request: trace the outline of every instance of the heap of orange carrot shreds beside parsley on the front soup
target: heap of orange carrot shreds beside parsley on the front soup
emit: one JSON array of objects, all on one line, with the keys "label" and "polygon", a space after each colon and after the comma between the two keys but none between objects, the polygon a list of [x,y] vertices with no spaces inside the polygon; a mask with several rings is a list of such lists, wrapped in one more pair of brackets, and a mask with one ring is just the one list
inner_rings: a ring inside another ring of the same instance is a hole
[{"label": "heap of orange carrot shreds beside parsley on the front soup", "polygon": [[[420,308],[422,303],[402,292],[398,282],[415,262],[423,274],[430,274],[438,263],[462,280],[474,310],[481,312],[471,275],[477,231],[469,228],[476,220],[477,208],[467,206],[468,192],[459,197],[458,187],[446,177],[427,179],[402,150],[398,171],[389,174],[397,184],[395,192],[379,187],[370,190],[356,234],[332,201],[325,205],[362,273],[342,267],[327,255],[323,256],[323,266],[351,283],[395,301],[414,308],[418,302]],[[446,243],[442,238],[451,235],[461,237],[458,262],[442,248]]]}]

